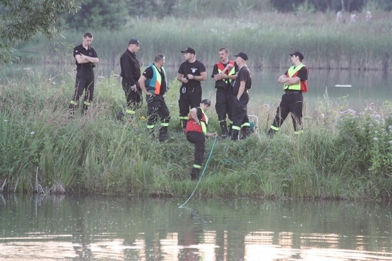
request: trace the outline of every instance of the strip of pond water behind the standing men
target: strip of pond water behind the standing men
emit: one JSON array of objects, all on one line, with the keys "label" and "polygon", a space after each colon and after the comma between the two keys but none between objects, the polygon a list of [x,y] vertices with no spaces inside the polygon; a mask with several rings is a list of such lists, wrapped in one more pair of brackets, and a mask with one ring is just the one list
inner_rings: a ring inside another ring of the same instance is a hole
[{"label": "strip of pond water behind the standing men", "polygon": [[[8,77],[21,77],[26,73],[25,68],[38,70],[42,75],[61,77],[61,75],[73,73],[73,66],[53,65],[25,65],[8,66],[3,68],[0,75]],[[166,68],[169,78],[174,79],[178,68]],[[96,69],[96,76],[110,77],[120,74],[120,68],[113,66],[101,66]],[[277,82],[279,75],[285,69],[250,69],[252,74],[252,89],[250,97],[253,102],[261,104],[276,104],[283,93],[283,86]],[[215,99],[214,80],[211,78],[212,68],[207,67],[207,80],[202,82],[203,96]],[[349,70],[312,70],[308,79],[309,92],[304,94],[305,102],[309,108],[313,108],[323,99],[327,90],[329,100],[337,105],[348,105],[353,110],[362,110],[370,103],[381,106],[386,100],[392,100],[392,72],[383,71],[349,71]],[[343,86],[343,87],[336,87]],[[347,87],[351,86],[351,87]],[[119,90],[121,83],[119,81]],[[97,88],[96,92],[99,92]],[[347,106],[345,106],[347,107]]]}]

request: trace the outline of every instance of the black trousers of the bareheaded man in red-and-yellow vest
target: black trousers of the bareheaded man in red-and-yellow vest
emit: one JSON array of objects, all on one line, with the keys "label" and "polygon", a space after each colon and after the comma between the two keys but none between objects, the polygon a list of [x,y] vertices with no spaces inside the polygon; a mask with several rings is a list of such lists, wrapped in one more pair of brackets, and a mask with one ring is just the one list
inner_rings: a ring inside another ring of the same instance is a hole
[{"label": "black trousers of the bareheaded man in red-and-yellow vest", "polygon": [[233,113],[233,90],[231,87],[217,88],[217,103],[215,111],[218,114],[218,120],[224,121],[227,117],[232,120]]}]

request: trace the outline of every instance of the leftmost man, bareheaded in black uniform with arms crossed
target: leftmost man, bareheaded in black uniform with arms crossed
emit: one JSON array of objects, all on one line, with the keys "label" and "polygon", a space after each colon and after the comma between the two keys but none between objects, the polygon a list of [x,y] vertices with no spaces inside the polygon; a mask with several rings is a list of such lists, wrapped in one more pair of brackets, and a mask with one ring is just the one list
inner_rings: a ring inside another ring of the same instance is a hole
[{"label": "leftmost man, bareheaded in black uniform with arms crossed", "polygon": [[83,111],[91,105],[94,96],[94,70],[93,68],[99,62],[97,52],[90,47],[93,42],[93,34],[87,32],[83,35],[83,42],[73,48],[73,57],[76,63],[76,81],[73,98],[70,102],[70,113],[73,114],[80,97],[84,90]]}]

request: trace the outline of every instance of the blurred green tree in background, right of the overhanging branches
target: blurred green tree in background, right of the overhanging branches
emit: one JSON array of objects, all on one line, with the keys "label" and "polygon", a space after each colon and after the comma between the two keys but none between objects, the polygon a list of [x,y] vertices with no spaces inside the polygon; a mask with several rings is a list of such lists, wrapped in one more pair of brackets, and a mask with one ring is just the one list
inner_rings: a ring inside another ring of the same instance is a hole
[{"label": "blurred green tree in background, right of the overhanging branches", "polygon": [[119,29],[128,19],[129,6],[132,3],[125,0],[83,0],[81,11],[66,20],[76,29]]}]

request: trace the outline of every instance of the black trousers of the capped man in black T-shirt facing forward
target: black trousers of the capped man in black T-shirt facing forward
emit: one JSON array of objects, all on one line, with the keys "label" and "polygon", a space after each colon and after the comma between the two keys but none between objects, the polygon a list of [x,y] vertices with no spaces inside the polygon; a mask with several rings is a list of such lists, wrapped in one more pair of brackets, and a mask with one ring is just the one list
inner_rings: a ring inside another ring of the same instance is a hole
[{"label": "black trousers of the capped man in black T-shirt facing forward", "polygon": [[201,87],[185,87],[180,88],[180,99],[178,100],[178,107],[180,109],[181,117],[188,118],[190,109],[199,107],[201,102]]}]

